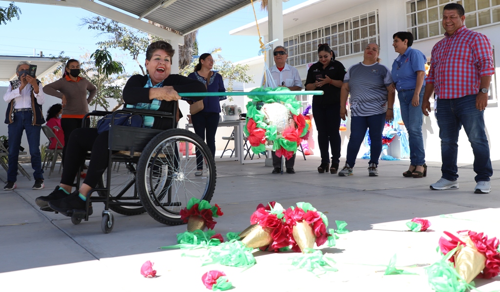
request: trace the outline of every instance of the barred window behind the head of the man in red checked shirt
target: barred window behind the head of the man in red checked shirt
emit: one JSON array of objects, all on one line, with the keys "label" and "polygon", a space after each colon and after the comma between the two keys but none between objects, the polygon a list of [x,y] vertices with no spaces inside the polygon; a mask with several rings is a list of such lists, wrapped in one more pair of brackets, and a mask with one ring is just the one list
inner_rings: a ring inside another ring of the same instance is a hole
[{"label": "barred window behind the head of the man in red checked shirt", "polygon": [[406,26],[415,39],[444,34],[444,5],[458,3],[465,9],[465,25],[474,28],[500,22],[500,0],[411,0],[406,2]]}]

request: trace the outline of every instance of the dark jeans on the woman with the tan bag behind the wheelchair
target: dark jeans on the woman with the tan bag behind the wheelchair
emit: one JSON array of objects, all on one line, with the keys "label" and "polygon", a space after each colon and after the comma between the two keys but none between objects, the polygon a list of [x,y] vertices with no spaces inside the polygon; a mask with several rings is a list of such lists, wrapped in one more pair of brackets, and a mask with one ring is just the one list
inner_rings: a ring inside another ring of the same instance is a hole
[{"label": "dark jeans on the woman with the tan bag behind the wheelchair", "polygon": [[[194,128],[194,133],[200,136],[203,141],[206,138],[206,145],[212,156],[215,157],[215,133],[217,132],[218,112],[204,112],[200,111],[191,115],[192,127]],[[206,131],[206,136],[205,136]],[[197,169],[203,169],[203,156],[201,152],[196,149],[196,165]]]}]

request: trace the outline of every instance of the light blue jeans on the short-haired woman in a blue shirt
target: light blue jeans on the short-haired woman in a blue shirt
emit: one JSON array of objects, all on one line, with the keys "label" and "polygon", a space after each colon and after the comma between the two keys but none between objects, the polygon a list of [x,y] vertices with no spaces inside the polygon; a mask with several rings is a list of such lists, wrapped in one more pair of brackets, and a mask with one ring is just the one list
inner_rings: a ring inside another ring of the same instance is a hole
[{"label": "light blue jeans on the short-haired woman in a blue shirt", "polygon": [[401,107],[401,118],[408,131],[409,161],[411,165],[423,165],[425,163],[425,151],[423,150],[422,137],[422,100],[423,88],[418,98],[419,105],[411,105],[411,99],[415,89],[397,91],[399,106]]}]

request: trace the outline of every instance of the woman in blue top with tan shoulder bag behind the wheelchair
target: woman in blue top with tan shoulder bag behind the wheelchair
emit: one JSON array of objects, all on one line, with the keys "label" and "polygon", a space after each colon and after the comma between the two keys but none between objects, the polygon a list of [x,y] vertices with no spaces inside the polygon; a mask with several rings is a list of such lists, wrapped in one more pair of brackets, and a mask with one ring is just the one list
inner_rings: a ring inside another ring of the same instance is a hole
[{"label": "woman in blue top with tan shoulder bag behind the wheelchair", "polygon": [[[212,71],[213,58],[209,53],[204,53],[199,56],[198,64],[194,67],[194,72],[187,77],[195,79],[205,84],[207,92],[225,92],[224,81],[222,76]],[[203,109],[191,115],[192,127],[194,133],[205,140],[206,145],[215,157],[215,132],[217,131],[220,103],[219,101],[226,99],[226,96],[206,96],[203,99]],[[206,132],[206,135],[205,135]],[[194,173],[200,176],[203,171],[203,157],[196,150],[197,171]]]}]

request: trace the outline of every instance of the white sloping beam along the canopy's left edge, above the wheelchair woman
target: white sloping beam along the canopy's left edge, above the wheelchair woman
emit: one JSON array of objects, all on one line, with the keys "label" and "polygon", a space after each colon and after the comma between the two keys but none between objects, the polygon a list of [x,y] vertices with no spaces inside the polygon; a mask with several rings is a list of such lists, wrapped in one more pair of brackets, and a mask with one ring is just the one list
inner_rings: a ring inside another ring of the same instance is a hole
[{"label": "white sloping beam along the canopy's left edge, above the wheelchair woman", "polygon": [[[0,0],[0,1],[10,1],[10,0]],[[156,25],[150,24],[146,21],[137,19],[135,17],[129,16],[125,13],[116,11],[114,9],[108,8],[104,5],[95,3],[89,0],[15,0],[16,2],[24,2],[24,3],[34,3],[34,4],[47,4],[47,5],[58,5],[58,6],[67,6],[67,7],[78,7],[88,10],[90,12],[99,14],[101,16],[107,17],[109,19],[118,21],[125,25],[134,27],[136,29],[142,30],[144,32],[156,35],[165,40],[168,40],[170,44],[184,44],[184,37],[158,27]]]}]

